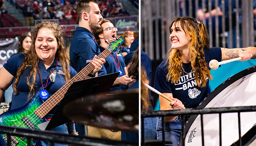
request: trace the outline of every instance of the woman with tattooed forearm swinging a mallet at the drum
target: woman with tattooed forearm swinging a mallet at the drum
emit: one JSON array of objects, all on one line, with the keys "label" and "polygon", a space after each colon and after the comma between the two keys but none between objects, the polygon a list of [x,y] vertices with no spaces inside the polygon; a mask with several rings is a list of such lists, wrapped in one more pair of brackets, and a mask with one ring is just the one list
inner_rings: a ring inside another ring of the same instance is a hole
[{"label": "woman with tattooed forearm swinging a mallet at the drum", "polygon": [[[177,17],[170,27],[172,48],[158,66],[154,87],[173,101],[159,96],[160,110],[197,107],[208,94],[212,79],[209,62],[241,57],[241,61],[256,58],[256,48],[210,48],[207,28],[194,18]],[[157,117],[157,139],[162,140],[162,119]],[[178,145],[182,130],[178,117],[165,117],[166,141]]]}]

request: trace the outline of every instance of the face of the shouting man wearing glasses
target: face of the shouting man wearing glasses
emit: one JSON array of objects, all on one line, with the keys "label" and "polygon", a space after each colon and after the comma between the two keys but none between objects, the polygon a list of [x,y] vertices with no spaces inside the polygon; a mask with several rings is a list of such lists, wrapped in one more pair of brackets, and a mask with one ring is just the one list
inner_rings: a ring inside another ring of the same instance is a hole
[{"label": "face of the shouting man wearing glasses", "polygon": [[[112,40],[115,40],[116,38],[116,30],[115,29],[112,29],[112,31],[109,31],[107,28],[108,27],[114,27],[114,25],[111,23],[111,22],[105,22],[101,25],[102,27],[102,34],[103,34],[103,37],[104,37],[104,40],[109,40],[109,38],[111,38]],[[109,42],[111,42],[109,40]]]}]

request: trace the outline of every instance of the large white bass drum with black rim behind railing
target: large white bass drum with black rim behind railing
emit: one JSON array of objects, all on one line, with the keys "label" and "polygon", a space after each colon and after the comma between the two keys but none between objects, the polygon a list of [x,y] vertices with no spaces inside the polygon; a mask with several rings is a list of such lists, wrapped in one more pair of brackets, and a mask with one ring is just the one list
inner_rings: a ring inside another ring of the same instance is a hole
[{"label": "large white bass drum with black rim behind railing", "polygon": [[[247,68],[228,78],[214,89],[197,108],[235,107],[256,105],[256,68]],[[242,142],[249,145],[255,139],[256,112],[240,113],[241,135],[249,132],[252,138],[244,135]],[[239,140],[238,113],[221,114],[222,146],[230,146]],[[205,146],[219,146],[219,114],[203,115]],[[185,141],[181,146],[202,146],[201,116],[192,115],[184,127]],[[182,137],[183,135],[181,135]],[[245,142],[246,140],[246,142]]]}]

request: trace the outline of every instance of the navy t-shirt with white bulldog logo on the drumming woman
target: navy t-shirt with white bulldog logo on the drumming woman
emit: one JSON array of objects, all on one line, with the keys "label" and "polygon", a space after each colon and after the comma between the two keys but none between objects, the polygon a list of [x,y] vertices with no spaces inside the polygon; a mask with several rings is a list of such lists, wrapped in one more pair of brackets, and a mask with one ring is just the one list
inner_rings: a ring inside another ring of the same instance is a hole
[{"label": "navy t-shirt with white bulldog logo on the drumming woman", "polygon": [[[209,64],[212,59],[221,61],[222,54],[220,47],[213,47],[210,50],[204,50],[205,62]],[[194,72],[192,70],[191,62],[182,63],[185,72],[182,73],[180,79],[175,84],[168,82],[166,75],[168,74],[168,60],[165,59],[157,67],[154,88],[162,93],[172,93],[173,98],[179,99],[185,107],[196,107],[201,99],[208,95],[209,79],[207,85],[203,88],[197,86]],[[208,65],[208,69],[210,67]],[[187,74],[188,73],[188,74]]]}]

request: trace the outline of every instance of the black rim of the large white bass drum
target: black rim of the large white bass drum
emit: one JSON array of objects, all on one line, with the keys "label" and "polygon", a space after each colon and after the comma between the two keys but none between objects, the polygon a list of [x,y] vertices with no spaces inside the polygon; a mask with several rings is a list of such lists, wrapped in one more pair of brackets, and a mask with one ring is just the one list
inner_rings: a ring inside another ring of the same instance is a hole
[{"label": "black rim of the large white bass drum", "polygon": [[[216,97],[220,92],[222,92],[229,85],[233,84],[234,82],[241,79],[242,77],[245,77],[245,76],[247,76],[249,74],[252,74],[254,72],[256,72],[256,65],[253,65],[252,67],[249,67],[249,68],[247,68],[247,69],[229,77],[228,79],[226,79],[226,81],[222,82],[221,85],[216,87],[206,98],[204,98],[204,100],[198,105],[197,109],[204,108],[214,97]],[[185,126],[184,126],[185,136],[184,136],[184,138],[186,138],[188,130],[190,129],[192,123],[195,121],[195,119],[197,118],[198,115],[191,115],[190,118],[188,119],[188,121],[185,123]],[[185,143],[184,143],[184,141],[181,141],[182,136],[183,136],[183,132],[181,133],[181,136],[180,136],[180,145],[183,146],[183,145],[185,145]]]}]

